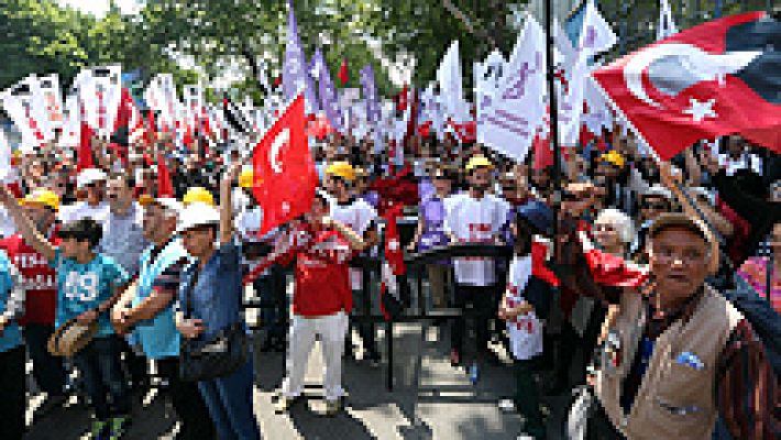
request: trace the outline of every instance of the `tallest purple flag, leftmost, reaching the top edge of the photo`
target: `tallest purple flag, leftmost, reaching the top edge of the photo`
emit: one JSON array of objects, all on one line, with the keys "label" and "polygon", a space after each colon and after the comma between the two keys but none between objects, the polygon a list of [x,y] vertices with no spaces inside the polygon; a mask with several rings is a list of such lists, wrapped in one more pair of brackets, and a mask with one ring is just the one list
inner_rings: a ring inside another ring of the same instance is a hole
[{"label": "tallest purple flag, leftmost, reaching the top edge of the photo", "polygon": [[296,24],[292,0],[287,1],[287,8],[289,11],[287,14],[287,44],[285,45],[282,87],[285,99],[288,101],[292,101],[300,89],[304,89],[307,113],[315,113],[318,110],[315,84],[306,68],[307,59],[301,47],[301,38],[298,37],[298,24]]}]

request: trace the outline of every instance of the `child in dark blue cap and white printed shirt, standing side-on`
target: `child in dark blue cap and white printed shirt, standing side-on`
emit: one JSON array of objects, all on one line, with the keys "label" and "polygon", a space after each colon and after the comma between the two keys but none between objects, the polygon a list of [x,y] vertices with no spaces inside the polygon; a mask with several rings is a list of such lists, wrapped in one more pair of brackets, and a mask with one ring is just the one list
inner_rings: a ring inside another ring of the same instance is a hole
[{"label": "child in dark blue cap and white printed shirt, standing side-on", "polygon": [[507,321],[510,352],[515,359],[515,406],[526,419],[525,431],[535,439],[546,438],[546,426],[539,409],[539,391],[532,375],[542,353],[542,321],[529,302],[532,289],[543,288],[547,280],[535,274],[532,246],[552,224],[552,212],[542,202],[530,201],[518,209],[513,224],[515,256],[509,266],[507,290],[499,304],[499,318]]}]

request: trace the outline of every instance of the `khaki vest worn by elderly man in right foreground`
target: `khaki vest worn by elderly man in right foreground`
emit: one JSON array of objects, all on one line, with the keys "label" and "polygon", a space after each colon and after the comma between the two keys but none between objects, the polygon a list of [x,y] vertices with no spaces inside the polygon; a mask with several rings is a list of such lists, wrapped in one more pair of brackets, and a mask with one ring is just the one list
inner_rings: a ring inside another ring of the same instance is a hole
[{"label": "khaki vest worn by elderly man in right foreground", "polygon": [[[622,295],[620,315],[612,328],[618,336],[620,361],[603,352],[595,393],[613,424],[631,440],[710,440],[716,421],[716,361],[743,315],[705,286],[689,321],[673,322],[656,341],[648,370],[629,414],[620,405],[622,383],[637,353],[646,324],[640,295]],[[676,362],[693,353],[702,369]]]}]

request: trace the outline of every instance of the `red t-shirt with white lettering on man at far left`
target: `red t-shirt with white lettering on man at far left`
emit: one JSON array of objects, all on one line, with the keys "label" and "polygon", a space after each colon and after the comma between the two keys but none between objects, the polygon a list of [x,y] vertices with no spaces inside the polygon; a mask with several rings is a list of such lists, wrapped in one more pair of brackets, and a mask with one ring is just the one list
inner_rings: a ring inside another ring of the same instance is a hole
[{"label": "red t-shirt with white lettering on man at far left", "polygon": [[[51,239],[51,242],[56,245],[59,239]],[[20,234],[0,240],[0,249],[8,253],[9,260],[24,279],[26,299],[24,316],[19,319],[19,323],[54,324],[57,299],[57,277],[54,268]]]}]

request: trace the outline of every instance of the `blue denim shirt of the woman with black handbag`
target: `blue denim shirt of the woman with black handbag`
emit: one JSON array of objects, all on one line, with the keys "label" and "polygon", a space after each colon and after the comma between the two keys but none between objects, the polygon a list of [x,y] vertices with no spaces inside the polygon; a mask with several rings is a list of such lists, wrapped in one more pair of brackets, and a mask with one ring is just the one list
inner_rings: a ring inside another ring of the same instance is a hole
[{"label": "blue denim shirt of the woman with black handbag", "polygon": [[[193,293],[189,285],[199,271]],[[186,318],[204,321],[201,338],[209,339],[221,329],[241,320],[242,266],[241,250],[233,243],[219,246],[204,268],[198,262],[187,266],[179,284],[179,305]],[[191,311],[187,309],[187,296]]]}]

